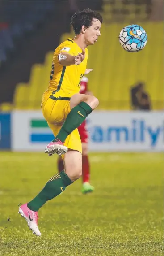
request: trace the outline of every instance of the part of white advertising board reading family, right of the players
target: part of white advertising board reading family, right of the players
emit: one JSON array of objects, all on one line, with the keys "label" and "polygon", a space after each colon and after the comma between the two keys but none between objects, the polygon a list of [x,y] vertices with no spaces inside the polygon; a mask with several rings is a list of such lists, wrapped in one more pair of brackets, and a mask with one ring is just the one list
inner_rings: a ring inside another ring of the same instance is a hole
[{"label": "part of white advertising board reading family, right of the players", "polygon": [[88,118],[94,151],[163,151],[163,112],[93,112]]}]

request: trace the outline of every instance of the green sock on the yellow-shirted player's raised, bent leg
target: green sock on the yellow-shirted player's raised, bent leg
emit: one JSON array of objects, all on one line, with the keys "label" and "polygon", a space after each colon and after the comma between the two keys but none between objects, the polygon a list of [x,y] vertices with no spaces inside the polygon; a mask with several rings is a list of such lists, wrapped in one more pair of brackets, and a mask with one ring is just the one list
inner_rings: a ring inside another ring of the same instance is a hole
[{"label": "green sock on the yellow-shirted player's raised, bent leg", "polygon": [[56,142],[57,140],[64,142],[67,136],[70,135],[73,130],[79,127],[91,112],[92,108],[84,101],[72,108],[53,142]]}]

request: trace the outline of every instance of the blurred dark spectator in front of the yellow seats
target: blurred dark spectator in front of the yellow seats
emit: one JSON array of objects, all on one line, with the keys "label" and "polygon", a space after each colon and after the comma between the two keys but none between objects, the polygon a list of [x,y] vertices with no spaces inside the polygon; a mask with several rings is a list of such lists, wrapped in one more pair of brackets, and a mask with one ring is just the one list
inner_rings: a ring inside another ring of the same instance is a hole
[{"label": "blurred dark spectator in front of the yellow seats", "polygon": [[145,84],[139,82],[131,88],[131,105],[134,110],[151,110],[151,100],[148,93],[144,90]]}]

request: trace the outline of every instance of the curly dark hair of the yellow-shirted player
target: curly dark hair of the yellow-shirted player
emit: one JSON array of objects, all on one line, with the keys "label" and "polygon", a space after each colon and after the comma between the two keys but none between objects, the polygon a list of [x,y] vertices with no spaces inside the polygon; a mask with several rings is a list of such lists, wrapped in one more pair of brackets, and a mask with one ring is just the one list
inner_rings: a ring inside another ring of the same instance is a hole
[{"label": "curly dark hair of the yellow-shirted player", "polygon": [[71,16],[71,26],[73,27],[75,34],[80,34],[83,25],[86,28],[91,26],[93,18],[102,23],[102,16],[100,13],[92,11],[89,8],[84,9],[83,11],[76,11],[76,13]]}]

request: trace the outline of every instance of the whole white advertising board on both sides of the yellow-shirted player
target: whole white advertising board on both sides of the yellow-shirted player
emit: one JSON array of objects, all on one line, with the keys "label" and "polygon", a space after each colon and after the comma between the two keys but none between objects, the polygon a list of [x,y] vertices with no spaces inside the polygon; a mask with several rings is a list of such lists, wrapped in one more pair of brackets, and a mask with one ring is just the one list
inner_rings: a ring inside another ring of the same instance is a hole
[{"label": "whole white advertising board on both sides of the yellow-shirted player", "polygon": [[[54,136],[41,111],[12,113],[13,151],[44,151]],[[94,111],[87,118],[90,151],[163,151],[163,112]]]}]

